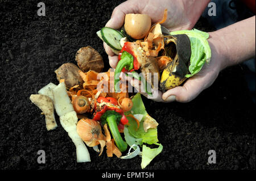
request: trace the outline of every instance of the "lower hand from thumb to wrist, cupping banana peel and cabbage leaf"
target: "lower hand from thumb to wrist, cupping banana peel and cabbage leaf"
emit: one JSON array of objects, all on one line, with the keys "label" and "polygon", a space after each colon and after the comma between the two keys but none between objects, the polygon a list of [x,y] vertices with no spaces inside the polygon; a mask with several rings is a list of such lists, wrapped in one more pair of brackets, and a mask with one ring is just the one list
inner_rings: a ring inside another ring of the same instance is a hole
[{"label": "lower hand from thumb to wrist, cupping banana peel and cabbage leaf", "polygon": [[199,73],[188,78],[183,86],[177,86],[163,93],[162,99],[164,102],[181,102],[187,103],[195,99],[203,90],[207,89],[218,77],[218,73],[224,69],[225,50],[221,49],[221,41],[214,32],[210,32],[208,39],[212,56],[209,64],[205,63]]}]

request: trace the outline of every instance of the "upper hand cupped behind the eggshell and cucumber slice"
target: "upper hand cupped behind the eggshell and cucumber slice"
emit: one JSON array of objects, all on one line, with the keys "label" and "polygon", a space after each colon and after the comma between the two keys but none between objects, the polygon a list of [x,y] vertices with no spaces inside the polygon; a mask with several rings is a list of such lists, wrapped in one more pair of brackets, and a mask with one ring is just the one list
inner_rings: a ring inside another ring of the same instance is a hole
[{"label": "upper hand cupped behind the eggshell and cucumber slice", "polygon": [[[163,12],[167,9],[167,20],[163,26],[170,31],[191,30],[201,13],[209,3],[205,0],[129,0],[115,7],[111,19],[106,27],[119,29],[123,26],[126,14],[147,14],[152,23],[159,22],[163,18]],[[109,65],[117,66],[118,56],[104,43],[106,53],[109,55]]]}]

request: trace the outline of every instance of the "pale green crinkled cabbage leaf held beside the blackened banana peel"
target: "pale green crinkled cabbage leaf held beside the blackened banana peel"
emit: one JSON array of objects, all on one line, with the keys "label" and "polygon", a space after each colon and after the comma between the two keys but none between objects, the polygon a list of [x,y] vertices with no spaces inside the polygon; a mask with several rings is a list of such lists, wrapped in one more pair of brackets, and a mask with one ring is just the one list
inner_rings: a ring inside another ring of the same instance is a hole
[{"label": "pale green crinkled cabbage leaf held beside the blackened banana peel", "polygon": [[187,74],[185,77],[192,77],[203,68],[205,62],[210,62],[211,50],[207,41],[209,38],[209,33],[193,29],[174,31],[170,34],[186,34],[189,37],[191,43],[191,58],[188,69],[191,74]]}]

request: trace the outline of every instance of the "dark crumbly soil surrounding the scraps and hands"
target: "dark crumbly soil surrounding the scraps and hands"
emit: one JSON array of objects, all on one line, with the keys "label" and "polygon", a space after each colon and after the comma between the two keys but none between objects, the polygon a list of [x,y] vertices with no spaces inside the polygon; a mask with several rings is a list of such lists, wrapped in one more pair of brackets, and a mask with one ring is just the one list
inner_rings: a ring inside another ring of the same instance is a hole
[{"label": "dark crumbly soil surrounding the scraps and hands", "polygon": [[[141,158],[101,157],[89,148],[90,163],[76,163],[76,150],[61,127],[47,131],[44,116],[29,100],[49,82],[54,70],[75,62],[87,45],[108,57],[96,31],[105,26],[122,1],[0,1],[1,107],[0,169],[141,169]],[[199,30],[213,31],[204,19]],[[146,169],[255,169],[255,104],[241,65],[222,71],[216,82],[190,103],[156,103],[143,98],[159,123],[160,153]],[[46,164],[38,164],[38,150]],[[209,165],[208,151],[217,163]]]}]

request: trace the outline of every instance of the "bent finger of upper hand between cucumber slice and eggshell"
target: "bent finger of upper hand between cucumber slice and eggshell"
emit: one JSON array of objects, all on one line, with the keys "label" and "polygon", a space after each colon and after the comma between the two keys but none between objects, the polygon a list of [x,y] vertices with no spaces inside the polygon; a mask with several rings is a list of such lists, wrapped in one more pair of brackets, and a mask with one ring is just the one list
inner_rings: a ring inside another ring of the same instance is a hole
[{"label": "bent finger of upper hand between cucumber slice and eggshell", "polygon": [[129,1],[121,3],[121,5],[115,7],[113,10],[110,20],[106,23],[106,27],[114,28],[116,30],[121,28],[125,22],[125,15],[135,13],[136,9],[136,6]]}]

